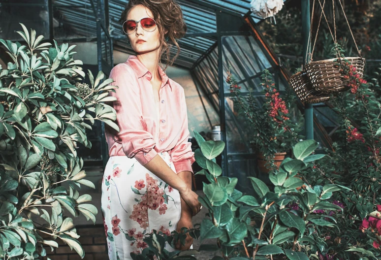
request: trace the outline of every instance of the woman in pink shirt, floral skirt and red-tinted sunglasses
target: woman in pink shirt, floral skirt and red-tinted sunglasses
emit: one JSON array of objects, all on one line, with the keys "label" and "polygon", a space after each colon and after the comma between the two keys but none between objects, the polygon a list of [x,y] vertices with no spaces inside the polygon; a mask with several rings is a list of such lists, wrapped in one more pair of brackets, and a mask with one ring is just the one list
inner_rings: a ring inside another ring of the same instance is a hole
[{"label": "woman in pink shirt, floral skirt and red-tinted sunglasses", "polygon": [[[170,235],[192,228],[191,218],[201,208],[191,191],[194,153],[188,142],[184,89],[159,66],[169,58],[169,44],[184,36],[186,25],[173,0],[130,0],[121,24],[136,55],[110,73],[111,96],[119,132],[105,131],[110,159],[103,182],[101,211],[110,260],[132,259],[147,244],[144,234],[153,229]],[[174,58],[174,59],[175,59]],[[167,62],[172,64],[173,60]],[[177,248],[191,248],[186,244]],[[167,243],[168,251],[174,251]]]}]

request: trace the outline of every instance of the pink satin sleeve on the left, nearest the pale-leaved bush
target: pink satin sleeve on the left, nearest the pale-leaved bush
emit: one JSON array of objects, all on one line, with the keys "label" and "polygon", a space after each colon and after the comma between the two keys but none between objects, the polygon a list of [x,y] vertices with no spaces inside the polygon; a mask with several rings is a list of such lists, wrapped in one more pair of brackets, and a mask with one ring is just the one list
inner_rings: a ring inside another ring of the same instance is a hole
[{"label": "pink satin sleeve on the left, nearest the pale-leaved bush", "polygon": [[138,84],[127,65],[118,64],[110,72],[114,79],[110,85],[118,86],[110,96],[116,97],[113,107],[117,115],[119,133],[118,142],[122,142],[123,151],[128,158],[134,157],[144,165],[151,161],[157,152],[154,136],[145,130],[139,97]]}]

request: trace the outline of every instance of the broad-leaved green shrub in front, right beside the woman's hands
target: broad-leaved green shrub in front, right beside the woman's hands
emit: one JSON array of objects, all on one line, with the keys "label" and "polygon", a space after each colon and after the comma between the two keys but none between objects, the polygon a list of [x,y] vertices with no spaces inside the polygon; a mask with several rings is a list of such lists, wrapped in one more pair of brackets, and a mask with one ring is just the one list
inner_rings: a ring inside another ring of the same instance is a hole
[{"label": "broad-leaved green shrub in front, right beside the woman's hands", "polygon": [[[275,186],[270,190],[262,181],[249,177],[255,195],[244,195],[235,189],[237,178],[221,176],[221,168],[212,159],[223,150],[221,141],[204,141],[195,132],[201,150],[195,151],[196,162],[210,184],[203,184],[205,197],[199,197],[209,210],[210,219],[200,226],[200,239],[217,238],[222,257],[266,259],[264,256],[286,254],[290,260],[308,259],[317,248],[317,241],[309,236],[317,227],[336,227],[336,220],[317,214],[341,207],[329,203],[333,192],[342,190],[339,185],[305,186],[297,173],[312,166],[324,155],[311,155],[318,147],[314,140],[299,142],[293,148],[295,159],[287,158],[280,169],[270,172]],[[205,156],[207,146],[220,150]],[[204,148],[204,149],[203,149]],[[293,205],[298,203],[298,207]],[[220,258],[219,258],[220,259]],[[221,258],[222,259],[222,258]],[[238,259],[238,258],[237,258]]]}]

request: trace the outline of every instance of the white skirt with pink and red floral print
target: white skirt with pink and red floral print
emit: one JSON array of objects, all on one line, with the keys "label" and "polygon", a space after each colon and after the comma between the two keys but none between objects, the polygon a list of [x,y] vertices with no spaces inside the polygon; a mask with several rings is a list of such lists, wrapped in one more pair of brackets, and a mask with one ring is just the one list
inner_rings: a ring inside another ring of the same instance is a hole
[{"label": "white skirt with pink and red floral print", "polygon": [[[161,158],[175,171],[167,152]],[[135,158],[109,158],[102,180],[101,212],[110,260],[132,259],[148,245],[144,234],[153,229],[170,235],[181,215],[179,191]],[[174,249],[165,242],[165,249]],[[192,247],[191,247],[192,248]]]}]

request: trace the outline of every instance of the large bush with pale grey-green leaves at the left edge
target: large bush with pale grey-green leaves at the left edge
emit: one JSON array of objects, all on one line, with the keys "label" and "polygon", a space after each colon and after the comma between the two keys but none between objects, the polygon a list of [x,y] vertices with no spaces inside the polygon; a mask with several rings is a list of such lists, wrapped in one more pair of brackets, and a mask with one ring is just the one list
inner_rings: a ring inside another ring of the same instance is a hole
[{"label": "large bush with pale grey-green leaves at the left edge", "polygon": [[102,72],[94,79],[89,71],[91,87],[76,83],[85,73],[73,60],[75,45],[54,41],[52,47],[21,26],[27,45],[0,39],[14,61],[0,68],[0,258],[45,256],[58,238],[83,258],[73,220],[64,213],[82,213],[95,223],[97,209],[90,195],[76,190],[95,188],[85,179],[76,144],[91,148],[86,129],[95,120],[119,130],[115,110],[103,103],[114,100],[107,96],[115,87],[108,86],[112,79],[101,83]]}]

